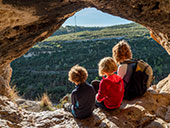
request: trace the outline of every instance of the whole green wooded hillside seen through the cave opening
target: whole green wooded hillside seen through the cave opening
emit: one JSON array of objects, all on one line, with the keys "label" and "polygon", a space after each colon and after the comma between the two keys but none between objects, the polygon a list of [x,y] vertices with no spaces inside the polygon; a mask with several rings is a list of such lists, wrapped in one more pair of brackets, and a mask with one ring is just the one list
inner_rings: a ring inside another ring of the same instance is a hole
[{"label": "whole green wooded hillside seen through the cave opening", "polygon": [[58,102],[74,88],[67,75],[73,65],[87,68],[87,81],[100,79],[98,62],[103,57],[112,56],[112,47],[122,39],[129,42],[134,58],[141,58],[153,67],[153,84],[169,74],[170,56],[151,39],[148,30],[139,24],[66,26],[12,62],[11,84],[16,84],[20,95],[25,98],[35,99],[47,92],[53,101]]}]

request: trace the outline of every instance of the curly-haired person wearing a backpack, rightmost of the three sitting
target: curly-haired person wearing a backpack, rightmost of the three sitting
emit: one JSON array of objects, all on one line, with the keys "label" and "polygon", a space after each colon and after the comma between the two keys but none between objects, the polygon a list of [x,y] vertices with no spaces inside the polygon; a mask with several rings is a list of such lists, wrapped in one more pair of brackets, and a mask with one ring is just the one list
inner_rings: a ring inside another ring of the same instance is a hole
[{"label": "curly-haired person wearing a backpack, rightmost of the three sitting", "polygon": [[[133,60],[131,47],[125,40],[120,41],[112,48],[112,54],[115,62],[119,65],[117,74],[124,81],[124,99],[130,100],[143,95],[152,83],[151,66],[143,60]],[[135,74],[137,71],[140,72]]]}]

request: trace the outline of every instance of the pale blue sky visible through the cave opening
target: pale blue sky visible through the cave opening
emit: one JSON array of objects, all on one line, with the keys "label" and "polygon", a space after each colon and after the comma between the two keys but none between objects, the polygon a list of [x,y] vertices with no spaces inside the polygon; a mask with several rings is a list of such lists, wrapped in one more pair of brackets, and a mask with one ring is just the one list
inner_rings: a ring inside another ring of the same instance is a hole
[{"label": "pale blue sky visible through the cave opening", "polygon": [[103,13],[95,8],[85,8],[67,19],[63,26],[75,25],[75,19],[77,26],[113,26],[132,22],[117,16]]}]

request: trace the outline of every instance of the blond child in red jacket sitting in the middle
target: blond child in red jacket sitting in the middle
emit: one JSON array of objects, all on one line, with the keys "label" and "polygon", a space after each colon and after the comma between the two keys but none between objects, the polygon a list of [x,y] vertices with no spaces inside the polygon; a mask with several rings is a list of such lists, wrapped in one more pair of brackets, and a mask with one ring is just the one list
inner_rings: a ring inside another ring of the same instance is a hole
[{"label": "blond child in red jacket sitting in the middle", "polygon": [[124,85],[121,77],[114,74],[117,70],[115,61],[111,57],[105,57],[99,62],[98,67],[99,75],[106,76],[106,78],[103,77],[100,81],[96,106],[104,109],[120,107],[124,96]]}]

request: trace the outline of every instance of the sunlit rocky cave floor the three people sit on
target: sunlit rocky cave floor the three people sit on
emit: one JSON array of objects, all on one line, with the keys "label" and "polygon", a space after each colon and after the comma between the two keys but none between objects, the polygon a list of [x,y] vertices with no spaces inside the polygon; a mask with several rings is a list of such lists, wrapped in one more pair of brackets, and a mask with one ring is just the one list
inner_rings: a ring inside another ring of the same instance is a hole
[{"label": "sunlit rocky cave floor the three people sit on", "polygon": [[[31,109],[18,107],[5,96],[0,96],[0,127],[169,128],[169,77],[162,80],[158,85],[149,88],[143,97],[132,101],[123,101],[121,107],[115,110],[105,111],[95,108],[93,115],[83,120],[75,119],[63,109],[39,112],[33,110],[33,112]],[[19,102],[22,102],[22,100]],[[28,102],[32,105],[36,104],[35,102]]]}]

